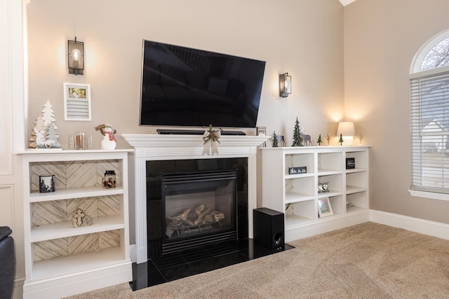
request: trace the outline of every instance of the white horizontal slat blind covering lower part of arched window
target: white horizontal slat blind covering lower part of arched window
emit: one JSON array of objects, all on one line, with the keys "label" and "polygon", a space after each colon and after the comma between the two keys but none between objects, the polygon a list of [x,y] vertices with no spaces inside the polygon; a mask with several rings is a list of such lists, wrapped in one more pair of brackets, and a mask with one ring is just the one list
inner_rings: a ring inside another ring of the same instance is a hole
[{"label": "white horizontal slat blind covering lower part of arched window", "polygon": [[412,190],[449,193],[449,71],[410,79]]}]

